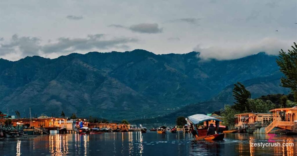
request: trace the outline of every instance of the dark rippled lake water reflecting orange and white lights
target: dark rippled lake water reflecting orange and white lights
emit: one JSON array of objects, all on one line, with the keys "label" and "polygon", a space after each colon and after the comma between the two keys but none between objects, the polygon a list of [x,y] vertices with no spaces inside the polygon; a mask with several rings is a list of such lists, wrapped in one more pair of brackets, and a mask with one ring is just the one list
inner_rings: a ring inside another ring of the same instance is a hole
[{"label": "dark rippled lake water reflecting orange and white lights", "polygon": [[268,135],[226,134],[224,141],[192,141],[190,134],[156,132],[54,134],[36,138],[6,138],[0,155],[297,155],[296,136],[277,136],[290,146],[251,147],[268,143]]}]

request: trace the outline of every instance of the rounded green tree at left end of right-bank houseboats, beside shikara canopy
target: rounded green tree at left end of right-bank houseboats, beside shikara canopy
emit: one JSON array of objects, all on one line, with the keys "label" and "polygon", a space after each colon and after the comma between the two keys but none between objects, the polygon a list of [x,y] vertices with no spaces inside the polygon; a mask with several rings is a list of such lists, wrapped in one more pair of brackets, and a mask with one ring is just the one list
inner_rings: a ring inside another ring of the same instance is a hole
[{"label": "rounded green tree at left end of right-bank houseboats, beside shikara canopy", "polygon": [[233,109],[230,105],[224,105],[224,109],[221,109],[221,115],[224,117],[224,125],[234,125],[234,115],[239,112]]}]

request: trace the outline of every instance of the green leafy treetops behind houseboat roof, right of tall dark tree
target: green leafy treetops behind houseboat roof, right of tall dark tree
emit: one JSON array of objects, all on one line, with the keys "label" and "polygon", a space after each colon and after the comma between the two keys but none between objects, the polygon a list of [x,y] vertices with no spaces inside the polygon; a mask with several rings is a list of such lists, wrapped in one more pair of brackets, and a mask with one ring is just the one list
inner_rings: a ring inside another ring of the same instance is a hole
[{"label": "green leafy treetops behind houseboat roof, right of tall dark tree", "polygon": [[276,105],[271,101],[263,101],[260,99],[247,99],[247,104],[250,110],[248,112],[253,113],[269,113],[269,110],[276,108]]}]

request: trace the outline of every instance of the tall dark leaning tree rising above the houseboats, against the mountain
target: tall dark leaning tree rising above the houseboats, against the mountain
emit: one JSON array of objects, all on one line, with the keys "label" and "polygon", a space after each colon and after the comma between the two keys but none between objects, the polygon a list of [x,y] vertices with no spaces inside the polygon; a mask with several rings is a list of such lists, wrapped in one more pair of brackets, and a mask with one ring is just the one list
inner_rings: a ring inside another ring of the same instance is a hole
[{"label": "tall dark leaning tree rising above the houseboats, against the mountain", "polygon": [[236,102],[233,105],[233,108],[239,112],[248,112],[249,105],[247,105],[247,99],[251,98],[251,93],[245,89],[245,86],[240,82],[234,84],[233,96]]}]

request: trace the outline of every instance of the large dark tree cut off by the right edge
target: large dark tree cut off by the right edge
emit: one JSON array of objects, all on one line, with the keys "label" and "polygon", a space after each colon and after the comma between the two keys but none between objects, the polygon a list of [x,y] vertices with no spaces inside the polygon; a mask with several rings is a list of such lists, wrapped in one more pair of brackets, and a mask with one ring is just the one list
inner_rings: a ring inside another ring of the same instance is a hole
[{"label": "large dark tree cut off by the right edge", "polygon": [[294,101],[297,102],[297,45],[294,42],[293,50],[286,53],[282,49],[279,58],[276,60],[280,71],[285,75],[281,78],[283,87],[290,88],[294,94]]}]

